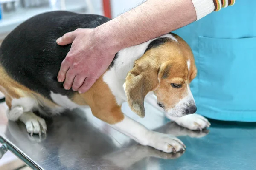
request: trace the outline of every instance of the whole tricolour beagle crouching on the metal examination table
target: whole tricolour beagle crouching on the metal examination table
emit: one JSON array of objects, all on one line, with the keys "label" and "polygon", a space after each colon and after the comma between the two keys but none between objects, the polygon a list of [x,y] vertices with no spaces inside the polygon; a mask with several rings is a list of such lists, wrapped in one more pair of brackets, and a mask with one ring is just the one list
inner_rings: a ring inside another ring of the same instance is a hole
[{"label": "whole tricolour beagle crouching on the metal examination table", "polygon": [[128,102],[131,110],[143,118],[145,99],[178,125],[191,130],[209,127],[207,119],[192,114],[196,105],[189,83],[197,70],[189,45],[176,34],[119,51],[86,93],[65,90],[57,81],[71,45],[59,46],[56,39],[77,28],[96,28],[109,20],[99,15],[53,11],[17,26],[0,47],[0,91],[9,107],[8,119],[20,120],[29,133],[41,135],[47,126],[35,111],[52,116],[66,109],[90,107],[94,116],[142,145],[166,153],[185,150],[175,136],[148,130],[121,111],[122,103]]}]

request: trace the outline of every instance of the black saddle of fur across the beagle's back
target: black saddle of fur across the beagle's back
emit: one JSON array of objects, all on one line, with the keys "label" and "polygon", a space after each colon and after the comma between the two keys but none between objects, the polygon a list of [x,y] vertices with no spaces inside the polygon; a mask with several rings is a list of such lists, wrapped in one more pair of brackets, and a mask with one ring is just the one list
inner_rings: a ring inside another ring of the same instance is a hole
[{"label": "black saddle of fur across the beagle's back", "polygon": [[59,46],[56,39],[77,28],[96,28],[109,20],[67,11],[39,14],[21,23],[3,40],[0,65],[14,80],[48,99],[50,91],[72,96],[74,92],[65,90],[57,81],[71,45]]}]

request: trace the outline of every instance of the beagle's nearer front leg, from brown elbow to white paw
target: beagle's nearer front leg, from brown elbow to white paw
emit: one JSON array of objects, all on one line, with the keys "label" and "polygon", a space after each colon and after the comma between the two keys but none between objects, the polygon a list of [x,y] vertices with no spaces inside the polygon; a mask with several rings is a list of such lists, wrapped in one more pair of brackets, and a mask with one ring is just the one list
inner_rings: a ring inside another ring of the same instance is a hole
[{"label": "beagle's nearer front leg, from brown elbow to white paw", "polygon": [[91,107],[94,116],[108,123],[114,129],[125,134],[126,136],[129,136],[131,139],[134,139],[136,142],[144,146],[151,146],[166,153],[175,153],[185,150],[185,145],[183,142],[181,142],[175,136],[148,130],[139,122],[125,116],[122,113],[120,106],[96,106],[97,107]]}]

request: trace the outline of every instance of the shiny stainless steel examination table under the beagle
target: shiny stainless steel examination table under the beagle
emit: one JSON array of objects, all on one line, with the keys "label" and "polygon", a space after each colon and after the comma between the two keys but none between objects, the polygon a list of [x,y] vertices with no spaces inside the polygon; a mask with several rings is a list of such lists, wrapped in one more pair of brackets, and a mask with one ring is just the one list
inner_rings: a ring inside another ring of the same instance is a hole
[{"label": "shiny stainless steel examination table under the beagle", "polygon": [[[5,104],[2,104],[5,105]],[[75,110],[47,119],[47,136],[29,136],[20,122],[0,124],[0,142],[32,169],[44,170],[256,170],[256,123],[210,120],[209,130],[187,130],[169,122],[151,105],[138,118],[150,129],[179,136],[184,153],[143,147],[92,116]]]}]

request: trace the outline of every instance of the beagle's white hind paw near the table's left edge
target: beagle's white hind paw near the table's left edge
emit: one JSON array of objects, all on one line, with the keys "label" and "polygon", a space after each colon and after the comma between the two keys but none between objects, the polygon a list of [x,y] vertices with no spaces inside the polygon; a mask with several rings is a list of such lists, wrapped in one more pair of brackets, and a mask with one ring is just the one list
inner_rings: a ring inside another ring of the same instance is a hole
[{"label": "beagle's white hind paw near the table's left edge", "polygon": [[41,136],[41,133],[45,134],[47,131],[45,120],[32,112],[23,113],[20,116],[20,121],[26,125],[26,130],[31,136],[33,134]]}]

